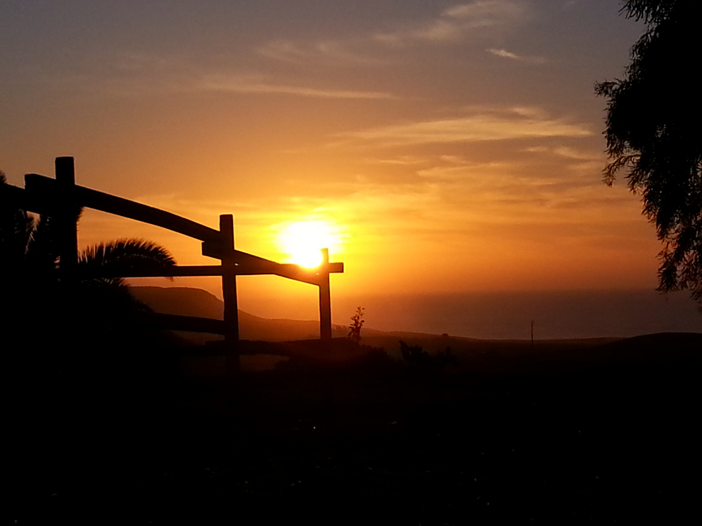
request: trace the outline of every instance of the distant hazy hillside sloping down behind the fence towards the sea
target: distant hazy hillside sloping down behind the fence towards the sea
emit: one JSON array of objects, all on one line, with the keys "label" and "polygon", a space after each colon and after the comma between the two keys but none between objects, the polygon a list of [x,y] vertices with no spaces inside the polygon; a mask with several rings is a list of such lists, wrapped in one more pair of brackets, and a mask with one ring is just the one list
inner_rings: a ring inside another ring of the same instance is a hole
[{"label": "distant hazy hillside sloping down behind the fence towards the sea", "polygon": [[[223,317],[222,300],[206,290],[187,287],[131,287],[130,290],[137,299],[156,312],[218,319]],[[332,332],[333,337],[343,338],[347,335],[348,328],[344,325],[334,325]],[[181,344],[204,344],[206,340],[221,339],[217,335],[192,332],[176,334],[182,338]],[[239,310],[239,334],[241,339],[261,342],[318,339],[319,322],[266,319]],[[362,344],[376,349],[383,348],[392,358],[398,360],[402,359],[399,353],[400,340],[410,345],[420,345],[429,353],[444,351],[450,346],[454,355],[458,356],[460,367],[467,367],[476,374],[488,376],[498,372],[524,374],[534,367],[534,370],[543,369],[545,374],[548,367],[544,369],[545,365],[539,365],[542,361],[555,364],[554,370],[570,370],[597,363],[625,363],[632,360],[698,360],[698,350],[702,349],[702,334],[694,332],[649,333],[631,338],[536,339],[534,345],[528,339],[475,339],[447,334],[366,328],[362,331]],[[536,359],[532,355],[536,356]]]}]

